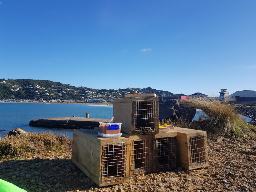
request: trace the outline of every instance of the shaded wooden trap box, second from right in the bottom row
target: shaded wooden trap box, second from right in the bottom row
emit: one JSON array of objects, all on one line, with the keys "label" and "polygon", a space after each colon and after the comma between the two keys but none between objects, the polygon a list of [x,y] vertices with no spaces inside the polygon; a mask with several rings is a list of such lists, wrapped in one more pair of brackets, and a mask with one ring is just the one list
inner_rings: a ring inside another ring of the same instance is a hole
[{"label": "shaded wooden trap box, second from right in the bottom row", "polygon": [[177,168],[177,133],[154,135],[154,172]]}]

